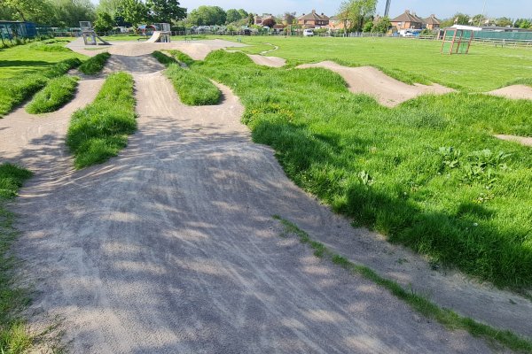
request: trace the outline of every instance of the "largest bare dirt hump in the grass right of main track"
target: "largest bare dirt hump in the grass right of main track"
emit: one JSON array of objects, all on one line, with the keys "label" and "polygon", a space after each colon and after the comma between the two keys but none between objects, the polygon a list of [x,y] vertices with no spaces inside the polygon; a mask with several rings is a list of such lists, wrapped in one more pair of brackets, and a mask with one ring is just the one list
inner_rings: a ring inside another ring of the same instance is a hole
[{"label": "largest bare dirt hump in the grass right of main track", "polygon": [[395,107],[411,98],[419,95],[435,94],[443,95],[454,92],[453,89],[442,85],[408,85],[395,80],[372,66],[348,67],[336,64],[332,61],[324,61],[317,64],[299,65],[297,68],[323,67],[339,73],[348,83],[348,88],[356,94],[375,96],[380,104],[387,107]]}]

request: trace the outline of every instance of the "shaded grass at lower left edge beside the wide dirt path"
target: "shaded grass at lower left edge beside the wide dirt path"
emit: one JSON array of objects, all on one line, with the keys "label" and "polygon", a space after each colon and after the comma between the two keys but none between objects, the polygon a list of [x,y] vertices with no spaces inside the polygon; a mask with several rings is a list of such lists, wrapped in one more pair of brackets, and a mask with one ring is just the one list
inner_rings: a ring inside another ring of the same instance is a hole
[{"label": "shaded grass at lower left edge beside the wide dirt path", "polygon": [[14,270],[19,266],[9,249],[17,233],[12,227],[13,215],[5,202],[17,195],[22,183],[31,177],[29,171],[16,165],[0,165],[0,352],[23,353],[31,346],[21,312],[29,297],[16,282]]}]

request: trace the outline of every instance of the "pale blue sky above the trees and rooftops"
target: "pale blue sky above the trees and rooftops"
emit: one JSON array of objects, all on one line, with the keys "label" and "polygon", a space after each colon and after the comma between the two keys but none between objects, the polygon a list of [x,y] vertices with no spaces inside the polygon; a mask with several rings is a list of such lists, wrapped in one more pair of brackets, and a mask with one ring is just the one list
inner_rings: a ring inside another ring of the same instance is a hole
[{"label": "pale blue sky above the trees and rooftops", "polygon": [[[92,0],[97,4],[98,0]],[[312,9],[332,16],[338,12],[340,0],[180,0],[189,12],[200,5],[217,5],[225,10],[242,8],[247,12],[308,13]],[[484,0],[392,0],[390,16],[400,15],[405,9],[417,12],[419,16],[435,13],[440,19],[449,18],[456,12],[475,15],[482,12]],[[379,0],[377,12],[384,13],[386,0]],[[486,0],[486,14],[489,17],[532,18],[532,0]]]}]

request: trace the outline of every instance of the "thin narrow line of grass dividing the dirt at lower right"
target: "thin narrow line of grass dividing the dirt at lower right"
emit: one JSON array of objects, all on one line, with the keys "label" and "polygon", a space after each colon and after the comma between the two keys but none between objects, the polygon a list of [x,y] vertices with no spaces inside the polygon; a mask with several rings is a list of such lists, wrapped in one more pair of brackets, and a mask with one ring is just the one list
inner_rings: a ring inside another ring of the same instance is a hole
[{"label": "thin narrow line of grass dividing the dirt at lower right", "polygon": [[348,260],[348,258],[334,253],[332,250],[328,249],[325,244],[312,240],[306,232],[292,222],[283,219],[278,215],[274,215],[273,219],[277,219],[285,227],[285,234],[296,235],[301,243],[308,244],[310,248],[314,250],[314,255],[316,257],[330,260],[333,264],[341,266],[348,270],[348,272],[356,273],[365,279],[378,284],[380,287],[387,289],[392,295],[409,304],[412,309],[426,318],[437,320],[443,326],[450,329],[464,329],[473,336],[482,337],[489,342],[498,342],[511,350],[526,353],[532,352],[532,342],[529,340],[524,339],[519,335],[515,335],[511,331],[490,327],[477,322],[474,319],[461,316],[452,310],[443,309],[438,305],[433,304],[425,297],[403,289],[403,287],[395,281],[390,281],[381,277],[371,268],[356,265]]}]

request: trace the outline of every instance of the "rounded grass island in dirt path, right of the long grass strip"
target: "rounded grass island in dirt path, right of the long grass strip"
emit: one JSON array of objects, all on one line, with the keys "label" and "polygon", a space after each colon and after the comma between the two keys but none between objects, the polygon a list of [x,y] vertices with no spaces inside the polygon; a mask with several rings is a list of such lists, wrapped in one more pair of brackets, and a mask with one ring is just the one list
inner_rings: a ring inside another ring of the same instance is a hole
[{"label": "rounded grass island in dirt path, right of the long grass strip", "polygon": [[188,105],[218,104],[222,96],[220,90],[200,73],[192,72],[178,64],[168,65],[165,71],[172,81],[181,102]]}]

